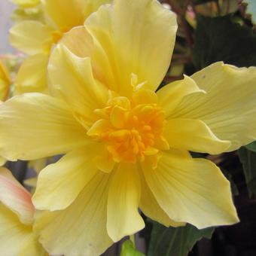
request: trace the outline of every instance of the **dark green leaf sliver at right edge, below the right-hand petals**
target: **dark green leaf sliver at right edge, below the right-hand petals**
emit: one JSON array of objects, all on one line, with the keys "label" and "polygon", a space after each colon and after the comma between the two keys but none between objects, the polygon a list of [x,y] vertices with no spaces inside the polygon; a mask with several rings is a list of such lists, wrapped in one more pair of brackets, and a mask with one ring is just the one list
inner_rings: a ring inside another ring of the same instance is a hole
[{"label": "dark green leaf sliver at right edge, below the right-hand petals", "polygon": [[242,163],[243,172],[249,197],[256,196],[256,153],[242,147],[238,151],[240,162]]}]

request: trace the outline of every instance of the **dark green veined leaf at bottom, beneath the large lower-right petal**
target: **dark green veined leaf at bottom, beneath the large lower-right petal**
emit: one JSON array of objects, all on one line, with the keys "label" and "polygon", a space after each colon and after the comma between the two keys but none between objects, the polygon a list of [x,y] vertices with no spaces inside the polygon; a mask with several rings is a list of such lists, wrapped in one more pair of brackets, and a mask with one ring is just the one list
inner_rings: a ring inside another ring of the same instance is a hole
[{"label": "dark green veined leaf at bottom, beneath the large lower-right petal", "polygon": [[214,227],[198,230],[190,224],[185,227],[164,227],[155,221],[151,233],[148,256],[187,256],[195,243],[206,237],[210,239]]}]

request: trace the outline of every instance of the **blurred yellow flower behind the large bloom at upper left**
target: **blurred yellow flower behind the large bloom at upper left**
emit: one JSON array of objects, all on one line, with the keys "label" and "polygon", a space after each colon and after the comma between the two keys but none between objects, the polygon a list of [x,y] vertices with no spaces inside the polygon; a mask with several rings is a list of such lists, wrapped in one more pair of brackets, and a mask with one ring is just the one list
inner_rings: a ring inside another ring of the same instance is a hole
[{"label": "blurred yellow flower behind the large bloom at upper left", "polygon": [[[32,1],[17,1],[29,5]],[[11,44],[28,54],[15,81],[15,93],[47,93],[47,64],[50,49],[72,27],[84,20],[100,5],[111,0],[45,0],[42,1],[46,23],[26,20],[10,30]]]}]

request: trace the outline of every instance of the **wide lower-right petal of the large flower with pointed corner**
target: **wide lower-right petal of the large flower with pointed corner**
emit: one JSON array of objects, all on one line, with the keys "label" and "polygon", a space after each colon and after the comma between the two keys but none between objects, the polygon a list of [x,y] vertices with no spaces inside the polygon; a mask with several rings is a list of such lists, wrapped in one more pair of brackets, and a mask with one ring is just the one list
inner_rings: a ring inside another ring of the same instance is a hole
[{"label": "wide lower-right petal of the large flower with pointed corner", "polygon": [[214,163],[164,153],[157,169],[143,169],[154,197],[172,220],[198,228],[239,221],[230,183]]}]

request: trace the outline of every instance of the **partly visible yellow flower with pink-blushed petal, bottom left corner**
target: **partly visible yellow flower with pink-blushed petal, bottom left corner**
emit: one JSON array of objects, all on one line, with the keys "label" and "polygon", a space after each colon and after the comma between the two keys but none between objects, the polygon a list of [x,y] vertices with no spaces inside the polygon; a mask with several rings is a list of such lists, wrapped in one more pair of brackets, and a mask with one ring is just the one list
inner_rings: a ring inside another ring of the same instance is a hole
[{"label": "partly visible yellow flower with pink-blushed petal, bottom left corner", "polygon": [[0,167],[0,247],[2,255],[43,256],[47,253],[32,231],[35,208],[31,195],[8,169]]}]

